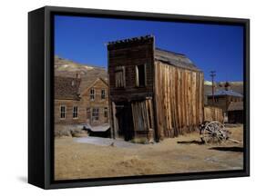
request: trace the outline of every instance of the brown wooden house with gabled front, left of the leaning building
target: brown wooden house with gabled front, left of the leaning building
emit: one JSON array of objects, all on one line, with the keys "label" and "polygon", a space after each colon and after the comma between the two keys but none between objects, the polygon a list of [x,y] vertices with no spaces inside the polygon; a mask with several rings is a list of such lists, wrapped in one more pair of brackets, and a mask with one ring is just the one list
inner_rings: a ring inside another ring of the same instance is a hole
[{"label": "brown wooden house with gabled front, left of the leaning building", "polygon": [[55,124],[108,123],[108,83],[101,78],[55,77]]}]

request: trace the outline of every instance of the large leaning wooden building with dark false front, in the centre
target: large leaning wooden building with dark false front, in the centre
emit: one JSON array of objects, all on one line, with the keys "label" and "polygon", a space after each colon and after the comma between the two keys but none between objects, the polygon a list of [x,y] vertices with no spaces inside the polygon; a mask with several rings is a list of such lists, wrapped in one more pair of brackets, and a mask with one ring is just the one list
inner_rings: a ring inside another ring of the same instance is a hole
[{"label": "large leaning wooden building with dark false front, in the centre", "polygon": [[112,137],[159,141],[203,122],[203,73],[147,35],[108,43]]}]

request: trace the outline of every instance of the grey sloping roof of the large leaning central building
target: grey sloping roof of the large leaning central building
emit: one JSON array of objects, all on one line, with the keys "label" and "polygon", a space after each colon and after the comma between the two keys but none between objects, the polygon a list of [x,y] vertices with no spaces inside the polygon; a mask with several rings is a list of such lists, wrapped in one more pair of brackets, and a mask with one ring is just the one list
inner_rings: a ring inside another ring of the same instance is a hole
[{"label": "grey sloping roof of the large leaning central building", "polygon": [[155,59],[166,64],[174,65],[180,68],[189,69],[192,71],[200,71],[185,54],[178,54],[159,48],[155,49]]}]

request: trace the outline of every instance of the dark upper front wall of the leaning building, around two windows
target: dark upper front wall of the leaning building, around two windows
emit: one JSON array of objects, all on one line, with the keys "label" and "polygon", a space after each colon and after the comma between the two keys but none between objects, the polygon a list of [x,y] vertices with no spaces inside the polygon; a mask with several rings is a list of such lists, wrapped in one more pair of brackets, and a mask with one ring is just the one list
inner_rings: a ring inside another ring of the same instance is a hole
[{"label": "dark upper front wall of the leaning building, around two windows", "polygon": [[[146,64],[146,86],[136,85],[136,66]],[[108,85],[110,101],[118,102],[146,97],[153,93],[153,43],[134,43],[117,46],[108,50]],[[121,75],[118,79],[118,70],[123,70],[125,76],[124,87],[121,86]]]}]

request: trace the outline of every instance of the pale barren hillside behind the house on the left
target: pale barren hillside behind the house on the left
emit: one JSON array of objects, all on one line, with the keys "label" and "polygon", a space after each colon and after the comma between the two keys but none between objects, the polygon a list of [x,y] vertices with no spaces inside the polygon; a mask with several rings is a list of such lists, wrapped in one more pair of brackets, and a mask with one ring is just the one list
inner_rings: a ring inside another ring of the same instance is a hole
[{"label": "pale barren hillside behind the house on the left", "polygon": [[76,77],[77,74],[83,80],[95,80],[97,77],[101,77],[105,81],[108,81],[108,72],[104,67],[93,66],[88,64],[77,64],[73,61],[55,56],[55,75],[63,77]]}]

